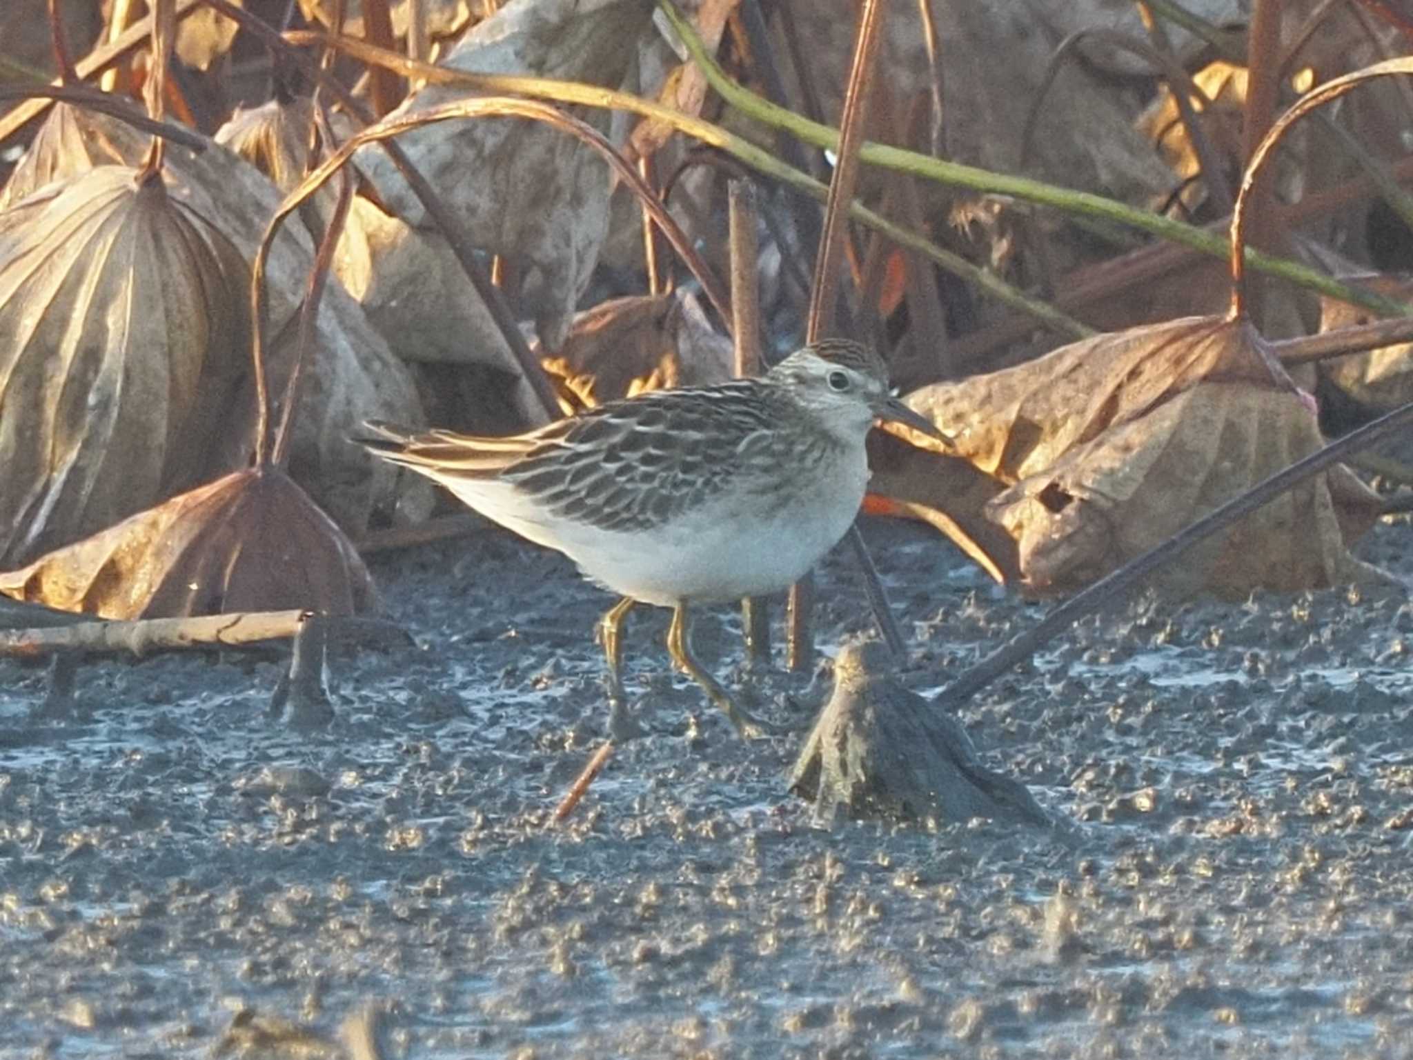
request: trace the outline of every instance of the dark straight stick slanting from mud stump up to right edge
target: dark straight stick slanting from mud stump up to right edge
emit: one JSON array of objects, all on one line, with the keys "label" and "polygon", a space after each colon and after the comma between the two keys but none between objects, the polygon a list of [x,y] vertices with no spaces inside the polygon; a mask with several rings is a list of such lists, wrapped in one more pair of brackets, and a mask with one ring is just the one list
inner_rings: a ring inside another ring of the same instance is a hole
[{"label": "dark straight stick slanting from mud stump up to right edge", "polygon": [[1256,512],[1267,502],[1299,485],[1311,475],[1324,471],[1335,461],[1359,449],[1378,445],[1385,438],[1395,437],[1399,431],[1413,424],[1413,401],[1399,406],[1392,413],[1381,416],[1364,427],[1359,427],[1338,441],[1330,442],[1304,459],[1291,464],[1284,471],[1279,471],[1270,478],[1259,482],[1208,516],[1197,520],[1186,530],[1180,530],[1161,544],[1143,553],[1112,574],[1101,578],[1084,592],[1071,596],[1064,603],[1053,608],[1036,626],[1024,633],[1013,636],[999,649],[986,656],[981,663],[966,670],[961,677],[942,688],[933,698],[933,704],[947,709],[955,709],[968,697],[985,688],[1017,663],[1031,657],[1071,625],[1094,613],[1099,608],[1123,596],[1147,575],[1169,565],[1178,555],[1186,553],[1198,541],[1225,530],[1238,523],[1245,516]]}]

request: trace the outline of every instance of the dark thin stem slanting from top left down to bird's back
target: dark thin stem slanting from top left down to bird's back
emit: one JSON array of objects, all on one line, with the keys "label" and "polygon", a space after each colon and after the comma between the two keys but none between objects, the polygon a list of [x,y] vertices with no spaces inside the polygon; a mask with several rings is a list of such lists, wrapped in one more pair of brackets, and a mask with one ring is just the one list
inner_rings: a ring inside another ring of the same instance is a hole
[{"label": "dark thin stem slanting from top left down to bird's back", "polygon": [[[237,23],[242,28],[249,30],[254,37],[259,37],[267,48],[271,48],[292,61],[305,73],[305,76],[324,86],[359,122],[363,122],[365,124],[373,123],[373,117],[369,114],[367,109],[359,103],[357,99],[355,99],[336,78],[321,71],[307,55],[285,41],[278,31],[270,28],[249,11],[244,11],[226,0],[201,0],[201,3],[220,11],[223,16]],[[314,34],[312,37],[312,44],[322,44],[325,40],[322,34]],[[383,151],[387,153],[387,157],[393,161],[393,165],[396,165],[397,171],[403,175],[403,179],[407,181],[407,187],[411,188],[413,195],[415,195],[417,201],[421,202],[422,209],[427,211],[427,215],[447,239],[447,245],[456,256],[458,264],[461,264],[466,278],[471,280],[471,285],[476,288],[476,294],[490,312],[490,319],[495,321],[506,346],[510,349],[516,363],[520,366],[520,370],[530,382],[530,389],[540,400],[545,416],[550,420],[557,420],[560,417],[560,403],[555,397],[554,386],[550,383],[548,376],[545,376],[538,358],[536,358],[530,351],[530,343],[527,343],[524,335],[520,334],[520,325],[516,322],[514,314],[510,312],[510,307],[506,304],[504,295],[499,288],[496,288],[495,284],[490,283],[490,277],[478,260],[476,246],[471,237],[469,228],[454,211],[448,209],[447,204],[442,202],[441,196],[432,189],[427,178],[422,177],[417,167],[413,165],[407,153],[403,151],[401,147],[391,140],[382,141],[382,147]]]}]

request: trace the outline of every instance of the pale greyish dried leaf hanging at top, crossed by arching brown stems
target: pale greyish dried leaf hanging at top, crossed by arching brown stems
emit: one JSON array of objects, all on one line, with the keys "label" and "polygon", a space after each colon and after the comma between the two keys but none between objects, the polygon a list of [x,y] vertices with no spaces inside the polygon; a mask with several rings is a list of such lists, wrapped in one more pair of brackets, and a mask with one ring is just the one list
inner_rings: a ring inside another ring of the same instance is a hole
[{"label": "pale greyish dried leaf hanging at top, crossed by arching brown stems", "polygon": [[[616,88],[636,41],[649,27],[651,0],[545,0],[502,7],[472,28],[444,65],[485,73],[528,73]],[[394,116],[465,96],[427,86]],[[581,117],[601,131],[606,112]],[[492,253],[521,266],[521,304],[548,348],[568,334],[603,242],[609,171],[593,150],[562,131],[512,119],[479,119],[418,129],[398,143]],[[422,208],[377,148],[359,167],[398,216],[422,225]]]}]

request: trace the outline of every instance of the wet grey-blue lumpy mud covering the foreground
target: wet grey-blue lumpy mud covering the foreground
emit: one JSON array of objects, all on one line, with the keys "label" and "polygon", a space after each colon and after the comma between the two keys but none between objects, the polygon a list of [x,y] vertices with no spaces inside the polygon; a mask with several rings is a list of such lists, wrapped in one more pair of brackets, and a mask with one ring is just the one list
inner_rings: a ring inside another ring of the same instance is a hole
[{"label": "wet grey-blue lumpy mud covering the foreground", "polygon": [[[1410,534],[1361,554],[1413,582]],[[868,537],[914,691],[1043,613],[927,530]],[[1396,595],[1081,623],[959,714],[1053,830],[820,820],[803,732],[736,739],[634,612],[650,735],[555,827],[610,601],[495,530],[374,574],[420,646],[335,656],[321,732],[271,718],[276,656],[85,666],[68,721],[0,664],[0,1057],[1413,1054]],[[820,588],[828,653],[869,626],[844,550]],[[738,628],[704,613],[699,654],[807,725],[828,657],[743,674]]]}]

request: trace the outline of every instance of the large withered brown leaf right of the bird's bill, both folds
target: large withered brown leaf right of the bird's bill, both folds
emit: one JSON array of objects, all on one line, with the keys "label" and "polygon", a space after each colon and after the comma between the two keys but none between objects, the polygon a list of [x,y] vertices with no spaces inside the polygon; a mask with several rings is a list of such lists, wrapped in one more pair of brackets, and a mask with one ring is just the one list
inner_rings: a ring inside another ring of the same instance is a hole
[{"label": "large withered brown leaf right of the bird's bill, both folds", "polygon": [[[955,473],[937,452],[914,451],[907,475],[885,473],[873,489],[935,505],[945,519],[928,522],[964,547],[948,524],[972,527],[975,541],[983,512],[1015,541],[1024,585],[1039,594],[1089,584],[1323,445],[1310,396],[1265,341],[1245,321],[1214,317],[1099,335],[907,400],[998,489],[1012,488],[992,499],[928,492],[927,466],[938,482]],[[1239,596],[1376,578],[1348,554],[1376,510],[1373,493],[1338,466],[1188,554],[1167,588]]]}]

